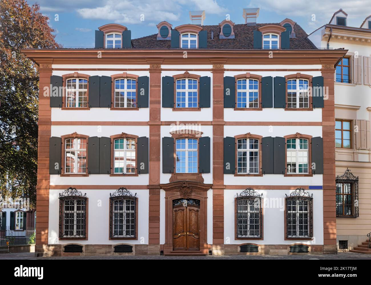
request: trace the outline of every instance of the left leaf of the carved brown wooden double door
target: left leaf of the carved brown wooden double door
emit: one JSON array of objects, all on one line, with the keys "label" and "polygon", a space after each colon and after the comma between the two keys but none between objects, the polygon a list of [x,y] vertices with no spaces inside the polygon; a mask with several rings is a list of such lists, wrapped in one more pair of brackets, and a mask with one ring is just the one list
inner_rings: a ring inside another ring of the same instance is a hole
[{"label": "left leaf of the carved brown wooden double door", "polygon": [[186,250],[187,233],[187,208],[177,207],[173,209],[173,248],[174,250]]}]

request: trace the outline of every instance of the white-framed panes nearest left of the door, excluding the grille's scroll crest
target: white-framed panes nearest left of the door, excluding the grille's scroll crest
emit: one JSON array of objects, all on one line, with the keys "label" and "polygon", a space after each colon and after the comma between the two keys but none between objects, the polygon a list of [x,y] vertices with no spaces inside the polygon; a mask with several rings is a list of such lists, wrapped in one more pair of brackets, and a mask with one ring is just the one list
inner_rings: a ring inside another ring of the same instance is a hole
[{"label": "white-framed panes nearest left of the door, excluding the grille's scroll crest", "polygon": [[135,237],[135,200],[111,200],[112,237]]}]

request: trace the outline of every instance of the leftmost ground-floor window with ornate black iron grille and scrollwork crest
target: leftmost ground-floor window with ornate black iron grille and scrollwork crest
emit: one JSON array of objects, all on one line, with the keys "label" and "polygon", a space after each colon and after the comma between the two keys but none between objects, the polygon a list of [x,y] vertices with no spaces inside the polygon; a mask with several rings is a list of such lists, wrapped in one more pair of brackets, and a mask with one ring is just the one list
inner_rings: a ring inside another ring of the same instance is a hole
[{"label": "leftmost ground-floor window with ornate black iron grille and scrollwork crest", "polygon": [[59,237],[86,238],[87,199],[73,187],[59,193]]}]

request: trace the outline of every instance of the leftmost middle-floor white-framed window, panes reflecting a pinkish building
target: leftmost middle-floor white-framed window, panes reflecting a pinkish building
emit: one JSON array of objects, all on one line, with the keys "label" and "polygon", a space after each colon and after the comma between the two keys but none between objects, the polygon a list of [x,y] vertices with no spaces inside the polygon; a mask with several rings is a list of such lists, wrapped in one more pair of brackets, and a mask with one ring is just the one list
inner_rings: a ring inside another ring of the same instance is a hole
[{"label": "leftmost middle-floor white-framed window, panes reflecting a pinkish building", "polygon": [[86,139],[65,140],[65,173],[86,173]]}]

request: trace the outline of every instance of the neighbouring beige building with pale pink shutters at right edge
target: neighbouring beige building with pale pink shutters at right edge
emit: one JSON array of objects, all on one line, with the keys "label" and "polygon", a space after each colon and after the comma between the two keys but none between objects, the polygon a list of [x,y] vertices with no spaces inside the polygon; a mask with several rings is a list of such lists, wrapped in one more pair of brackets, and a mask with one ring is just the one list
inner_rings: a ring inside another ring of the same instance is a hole
[{"label": "neighbouring beige building with pale pink shutters at right edge", "polygon": [[334,78],[337,245],[371,253],[365,242],[371,232],[371,15],[359,28],[348,27],[347,16],[338,10],[308,39],[317,48],[349,50]]}]

